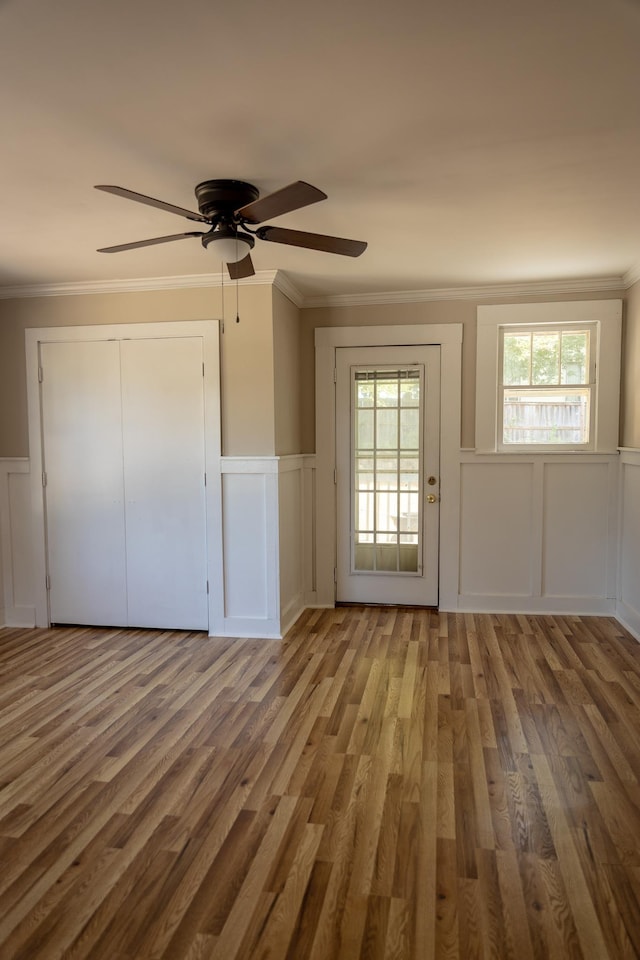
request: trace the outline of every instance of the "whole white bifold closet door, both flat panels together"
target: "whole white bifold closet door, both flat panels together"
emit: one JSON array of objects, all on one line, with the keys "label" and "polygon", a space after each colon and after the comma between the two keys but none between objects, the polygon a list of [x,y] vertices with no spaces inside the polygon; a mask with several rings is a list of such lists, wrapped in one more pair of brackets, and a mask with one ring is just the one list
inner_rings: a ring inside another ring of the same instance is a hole
[{"label": "whole white bifold closet door, both flat panels together", "polygon": [[206,629],[201,339],[40,360],[51,622]]}]

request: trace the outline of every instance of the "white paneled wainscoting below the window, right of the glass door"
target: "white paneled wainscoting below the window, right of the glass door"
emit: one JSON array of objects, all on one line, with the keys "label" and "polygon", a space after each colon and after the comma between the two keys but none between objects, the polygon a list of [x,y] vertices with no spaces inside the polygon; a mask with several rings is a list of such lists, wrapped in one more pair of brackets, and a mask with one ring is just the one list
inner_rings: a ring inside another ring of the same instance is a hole
[{"label": "white paneled wainscoting below the window, right of the glass door", "polygon": [[462,453],[458,609],[615,613],[617,474],[617,455]]}]

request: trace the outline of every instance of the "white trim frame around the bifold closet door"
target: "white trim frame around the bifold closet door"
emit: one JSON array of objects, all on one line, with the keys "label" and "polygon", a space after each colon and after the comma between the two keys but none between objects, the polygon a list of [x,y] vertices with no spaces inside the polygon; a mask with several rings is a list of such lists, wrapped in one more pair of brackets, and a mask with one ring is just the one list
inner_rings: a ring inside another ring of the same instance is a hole
[{"label": "white trim frame around the bifold closet door", "polygon": [[29,460],[31,473],[32,546],[36,626],[50,626],[47,590],[47,531],[45,522],[40,399],[40,344],[81,340],[147,340],[199,337],[204,357],[205,488],[209,635],[224,633],[222,560],[222,489],[220,422],[220,329],[217,320],[161,323],[118,323],[92,326],[44,327],[25,331]]}]

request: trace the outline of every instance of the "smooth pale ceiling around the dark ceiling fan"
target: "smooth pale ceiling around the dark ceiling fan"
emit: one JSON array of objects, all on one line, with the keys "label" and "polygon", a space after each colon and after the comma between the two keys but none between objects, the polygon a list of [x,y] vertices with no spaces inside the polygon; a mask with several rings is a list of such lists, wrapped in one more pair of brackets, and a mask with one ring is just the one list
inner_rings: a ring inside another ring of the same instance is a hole
[{"label": "smooth pale ceiling around the dark ceiling fan", "polygon": [[0,0],[0,286],[211,271],[210,178],[329,195],[258,242],[307,297],[637,275],[637,0]]}]

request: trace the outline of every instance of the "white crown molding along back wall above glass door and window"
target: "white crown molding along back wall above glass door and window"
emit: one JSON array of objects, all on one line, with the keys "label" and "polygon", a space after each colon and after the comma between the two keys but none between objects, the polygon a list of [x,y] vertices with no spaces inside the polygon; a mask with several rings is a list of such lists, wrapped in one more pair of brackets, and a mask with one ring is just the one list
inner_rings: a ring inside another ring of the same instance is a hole
[{"label": "white crown molding along back wall above glass door and window", "polygon": [[585,280],[550,280],[529,283],[494,283],[475,287],[439,287],[431,290],[390,290],[385,293],[355,293],[333,297],[307,297],[304,307],[359,307],[387,303],[423,303],[430,300],[492,300],[505,297],[559,296],[571,293],[602,293],[624,288],[622,277]]}]

